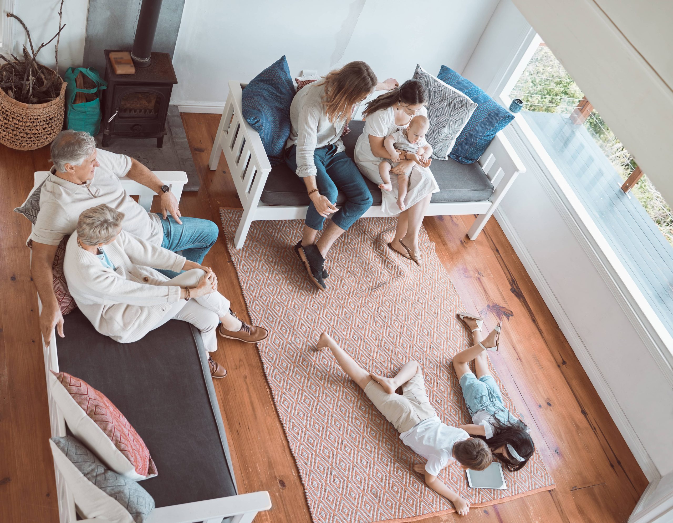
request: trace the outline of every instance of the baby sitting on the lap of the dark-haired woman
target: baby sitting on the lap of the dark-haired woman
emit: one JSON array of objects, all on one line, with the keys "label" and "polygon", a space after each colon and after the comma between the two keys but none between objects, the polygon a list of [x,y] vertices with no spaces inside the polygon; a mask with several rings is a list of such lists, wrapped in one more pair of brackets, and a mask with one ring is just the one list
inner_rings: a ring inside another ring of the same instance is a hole
[{"label": "baby sitting on the lap of the dark-haired woman", "polygon": [[[419,116],[411,118],[409,127],[398,129],[384,139],[383,145],[390,154],[390,160],[386,158],[379,164],[379,174],[382,180],[382,183],[379,184],[380,189],[392,190],[390,170],[402,160],[413,160],[421,167],[430,165],[429,158],[432,154],[432,147],[425,141],[425,133],[427,133],[429,127],[429,120],[419,114]],[[401,155],[400,151],[402,151]],[[404,198],[406,197],[406,191],[409,189],[411,170],[413,169],[397,176],[397,205],[400,207],[400,211],[404,211]]]}]

